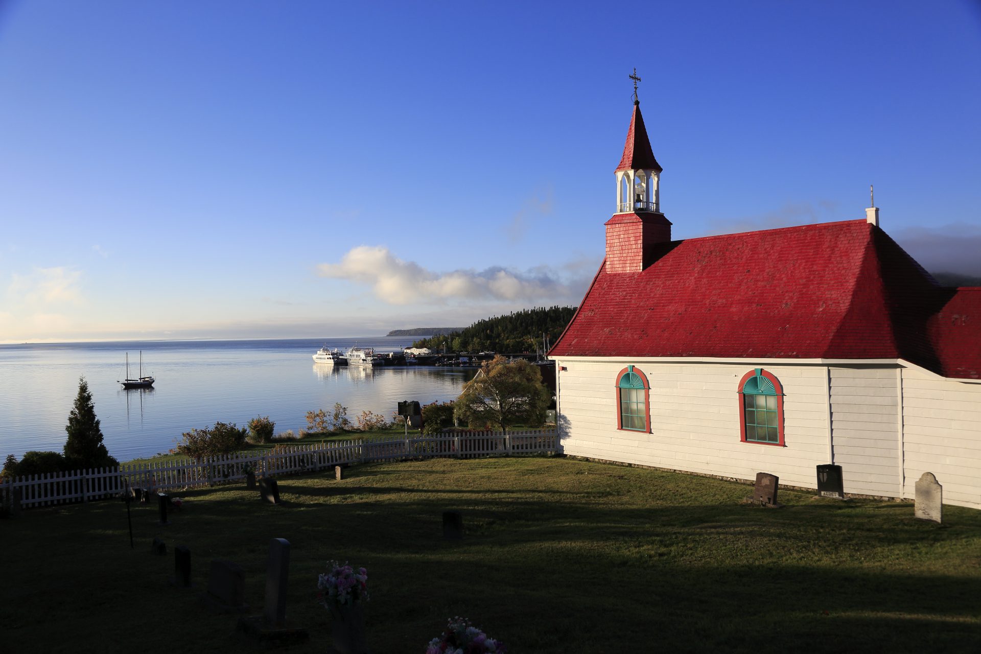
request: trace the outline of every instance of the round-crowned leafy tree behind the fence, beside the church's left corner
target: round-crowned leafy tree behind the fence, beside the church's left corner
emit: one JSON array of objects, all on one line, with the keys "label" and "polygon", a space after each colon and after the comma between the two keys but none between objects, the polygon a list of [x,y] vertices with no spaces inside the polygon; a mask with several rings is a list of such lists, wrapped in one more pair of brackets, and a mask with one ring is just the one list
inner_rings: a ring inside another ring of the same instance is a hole
[{"label": "round-crowned leafy tree behind the fence, beside the church's left corner", "polygon": [[507,431],[512,425],[541,426],[549,399],[538,366],[523,359],[508,363],[497,355],[484,362],[453,406],[456,417],[472,428]]}]

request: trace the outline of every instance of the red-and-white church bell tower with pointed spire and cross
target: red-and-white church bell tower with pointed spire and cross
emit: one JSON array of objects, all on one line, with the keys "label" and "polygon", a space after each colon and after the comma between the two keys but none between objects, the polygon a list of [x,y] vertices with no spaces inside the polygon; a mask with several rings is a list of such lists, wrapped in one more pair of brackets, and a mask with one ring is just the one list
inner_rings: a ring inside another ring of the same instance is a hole
[{"label": "red-and-white church bell tower with pointed spire and cross", "polygon": [[661,169],[647,139],[634,75],[634,114],[623,156],[616,167],[616,213],[606,222],[606,272],[640,273],[645,249],[671,240],[671,223],[661,213]]}]

